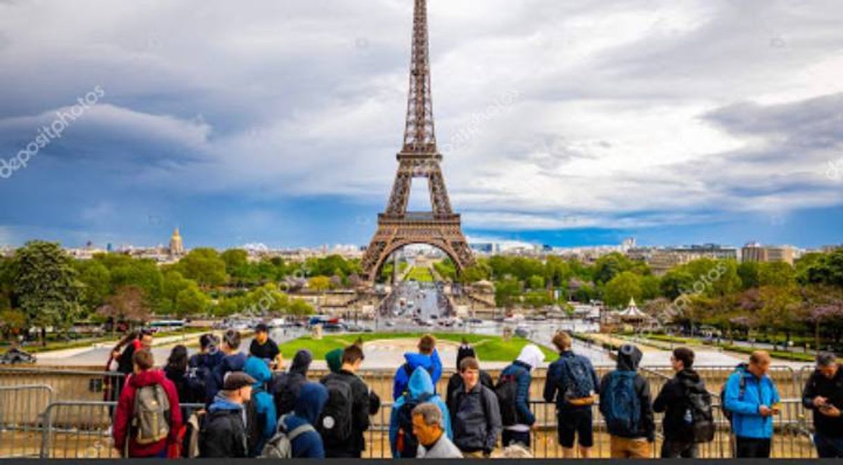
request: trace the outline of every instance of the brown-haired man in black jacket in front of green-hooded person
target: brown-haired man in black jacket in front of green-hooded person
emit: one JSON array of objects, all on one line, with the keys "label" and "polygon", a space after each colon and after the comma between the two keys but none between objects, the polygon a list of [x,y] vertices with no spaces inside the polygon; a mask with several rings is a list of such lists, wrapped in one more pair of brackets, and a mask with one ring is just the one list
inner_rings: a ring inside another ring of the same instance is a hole
[{"label": "brown-haired man in black jacket in front of green-hooded person", "polygon": [[[337,444],[326,434],[325,428],[330,427],[333,420],[323,416],[319,420],[319,433],[325,443],[325,457],[330,458],[360,458],[366,450],[366,439],[364,433],[369,429],[369,415],[376,414],[380,405],[380,399],[369,393],[369,388],[360,377],[355,374],[362,365],[364,356],[359,345],[349,345],[342,352],[342,367],[339,373],[330,373],[319,382],[328,387],[331,380],[346,382],[352,388],[352,436],[344,443]],[[330,391],[329,391],[330,393]],[[328,403],[330,403],[330,396]],[[329,406],[325,405],[325,409]],[[323,409],[323,413],[325,412]]]}]

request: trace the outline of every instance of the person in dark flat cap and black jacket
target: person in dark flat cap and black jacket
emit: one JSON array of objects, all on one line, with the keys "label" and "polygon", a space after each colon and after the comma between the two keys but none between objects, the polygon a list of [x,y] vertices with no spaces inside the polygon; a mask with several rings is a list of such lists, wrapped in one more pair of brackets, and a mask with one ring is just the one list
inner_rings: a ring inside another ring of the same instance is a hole
[{"label": "person in dark flat cap and black jacket", "polygon": [[257,380],[242,371],[231,371],[208,408],[206,426],[199,436],[203,458],[240,458],[249,456],[244,404],[252,397]]}]

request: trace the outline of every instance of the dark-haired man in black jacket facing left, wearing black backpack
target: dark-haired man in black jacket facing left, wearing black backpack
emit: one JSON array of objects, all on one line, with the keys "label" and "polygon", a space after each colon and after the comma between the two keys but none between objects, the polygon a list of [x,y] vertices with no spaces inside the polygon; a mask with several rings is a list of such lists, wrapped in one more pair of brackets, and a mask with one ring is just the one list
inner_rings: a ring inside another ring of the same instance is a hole
[{"label": "dark-haired man in black jacket facing left, wearing black backpack", "polygon": [[685,415],[688,414],[689,393],[706,393],[706,383],[694,371],[694,351],[685,347],[674,350],[670,363],[676,376],[664,384],[652,411],[664,413],[664,441],[662,458],[696,458],[698,447],[694,441],[694,431]]}]

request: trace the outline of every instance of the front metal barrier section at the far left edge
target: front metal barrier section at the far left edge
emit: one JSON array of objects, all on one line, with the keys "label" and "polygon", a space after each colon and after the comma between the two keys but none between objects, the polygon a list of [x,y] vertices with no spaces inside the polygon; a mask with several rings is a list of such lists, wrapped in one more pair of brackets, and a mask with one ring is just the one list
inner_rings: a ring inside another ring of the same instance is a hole
[{"label": "front metal barrier section at the far left edge", "polygon": [[38,457],[37,435],[53,395],[46,385],[0,386],[0,456]]}]

